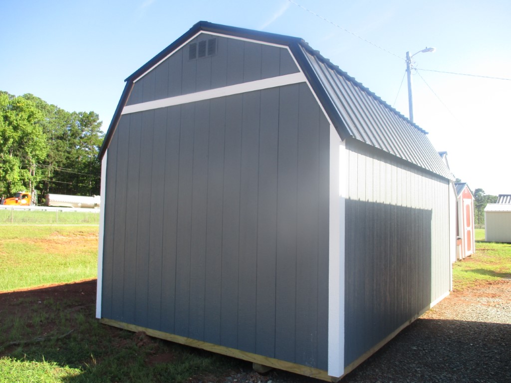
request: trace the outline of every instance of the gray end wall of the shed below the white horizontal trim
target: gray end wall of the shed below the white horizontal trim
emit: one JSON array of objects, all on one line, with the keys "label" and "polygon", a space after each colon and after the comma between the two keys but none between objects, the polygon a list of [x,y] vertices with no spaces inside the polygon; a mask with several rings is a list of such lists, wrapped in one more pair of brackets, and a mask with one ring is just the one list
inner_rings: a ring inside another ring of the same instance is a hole
[{"label": "gray end wall of the shed below the white horizontal trim", "polygon": [[103,318],[326,370],[329,129],[305,83],[123,115]]}]

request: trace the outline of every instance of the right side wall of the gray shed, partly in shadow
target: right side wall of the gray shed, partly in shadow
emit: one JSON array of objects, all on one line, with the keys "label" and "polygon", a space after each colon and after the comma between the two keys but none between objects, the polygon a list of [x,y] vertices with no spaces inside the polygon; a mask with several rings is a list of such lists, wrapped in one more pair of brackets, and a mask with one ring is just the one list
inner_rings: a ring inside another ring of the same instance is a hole
[{"label": "right side wall of the gray shed, partly in shadow", "polygon": [[449,183],[349,152],[345,365],[450,288]]}]

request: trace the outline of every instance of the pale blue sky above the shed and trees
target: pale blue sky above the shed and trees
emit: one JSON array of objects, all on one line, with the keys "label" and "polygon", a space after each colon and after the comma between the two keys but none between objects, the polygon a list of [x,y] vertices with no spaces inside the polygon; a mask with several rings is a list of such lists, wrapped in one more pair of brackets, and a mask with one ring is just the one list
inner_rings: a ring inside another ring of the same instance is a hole
[{"label": "pale blue sky above the shed and trees", "polygon": [[[306,8],[306,9],[304,9]],[[124,79],[199,20],[301,37],[414,121],[474,190],[511,193],[508,0],[54,0],[3,2],[0,90],[95,111],[104,130]],[[400,88],[400,84],[401,88]]]}]

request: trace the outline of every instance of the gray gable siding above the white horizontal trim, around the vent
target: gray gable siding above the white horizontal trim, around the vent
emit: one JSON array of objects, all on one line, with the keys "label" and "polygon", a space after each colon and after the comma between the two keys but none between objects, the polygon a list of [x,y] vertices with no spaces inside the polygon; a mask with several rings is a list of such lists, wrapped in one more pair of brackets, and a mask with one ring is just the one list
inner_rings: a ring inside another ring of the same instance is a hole
[{"label": "gray gable siding above the white horizontal trim, around the vent", "polygon": [[[216,38],[217,54],[189,60],[189,45]],[[297,73],[285,48],[202,34],[133,85],[126,105]]]}]

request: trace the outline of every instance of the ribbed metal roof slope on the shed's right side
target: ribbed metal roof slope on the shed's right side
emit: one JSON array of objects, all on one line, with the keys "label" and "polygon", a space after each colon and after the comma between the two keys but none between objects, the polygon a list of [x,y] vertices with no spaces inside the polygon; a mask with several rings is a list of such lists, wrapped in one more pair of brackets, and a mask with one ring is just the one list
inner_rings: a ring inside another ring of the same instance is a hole
[{"label": "ribbed metal roof slope on the shed's right side", "polygon": [[[447,166],[433,148],[424,130],[383,102],[318,52],[302,43],[309,68],[319,79],[321,89],[340,116],[347,135],[370,146],[400,157],[423,169],[451,179]],[[335,123],[334,123],[335,124]]]}]

